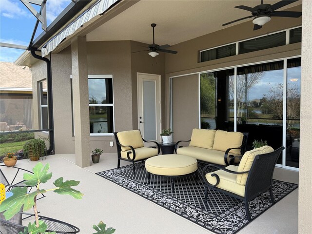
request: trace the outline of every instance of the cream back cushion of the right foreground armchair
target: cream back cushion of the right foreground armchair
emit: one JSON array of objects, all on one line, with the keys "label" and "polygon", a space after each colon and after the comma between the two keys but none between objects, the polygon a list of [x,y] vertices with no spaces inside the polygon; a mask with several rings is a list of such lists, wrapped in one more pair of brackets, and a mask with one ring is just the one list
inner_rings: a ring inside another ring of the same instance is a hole
[{"label": "cream back cushion of the right foreground armchair", "polygon": [[[247,172],[250,171],[254,158],[257,155],[267,154],[273,152],[273,148],[271,146],[265,145],[257,149],[253,149],[251,151],[247,151],[242,159],[240,160],[240,163],[238,165],[237,172]],[[246,185],[248,173],[244,174],[238,174],[236,176],[236,182],[241,185]]]}]

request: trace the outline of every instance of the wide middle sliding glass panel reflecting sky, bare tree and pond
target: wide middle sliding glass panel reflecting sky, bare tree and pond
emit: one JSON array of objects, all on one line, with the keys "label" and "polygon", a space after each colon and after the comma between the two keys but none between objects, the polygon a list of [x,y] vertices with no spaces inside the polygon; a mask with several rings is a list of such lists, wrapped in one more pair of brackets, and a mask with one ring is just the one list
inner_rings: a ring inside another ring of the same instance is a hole
[{"label": "wide middle sliding glass panel reflecting sky, bare tree and pond", "polygon": [[254,140],[282,146],[283,77],[283,61],[237,68],[237,131],[249,132],[247,150]]}]

